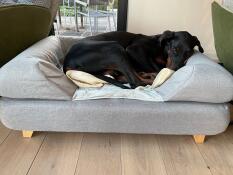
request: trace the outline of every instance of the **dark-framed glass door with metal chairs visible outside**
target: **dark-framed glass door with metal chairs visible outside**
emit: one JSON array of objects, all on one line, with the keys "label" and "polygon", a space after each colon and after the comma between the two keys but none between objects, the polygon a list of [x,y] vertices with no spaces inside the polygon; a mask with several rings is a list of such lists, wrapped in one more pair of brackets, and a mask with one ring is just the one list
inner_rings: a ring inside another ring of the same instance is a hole
[{"label": "dark-framed glass door with metal chairs visible outside", "polygon": [[55,33],[86,37],[126,30],[127,6],[127,0],[62,0]]}]

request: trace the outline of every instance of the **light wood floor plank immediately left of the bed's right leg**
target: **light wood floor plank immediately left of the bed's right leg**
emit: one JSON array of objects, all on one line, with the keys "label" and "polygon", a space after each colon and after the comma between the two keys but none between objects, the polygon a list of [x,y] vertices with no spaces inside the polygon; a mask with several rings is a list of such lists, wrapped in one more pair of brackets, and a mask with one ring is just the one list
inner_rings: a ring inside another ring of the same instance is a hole
[{"label": "light wood floor plank immediately left of the bed's right leg", "polygon": [[159,136],[168,175],[211,175],[191,136]]}]

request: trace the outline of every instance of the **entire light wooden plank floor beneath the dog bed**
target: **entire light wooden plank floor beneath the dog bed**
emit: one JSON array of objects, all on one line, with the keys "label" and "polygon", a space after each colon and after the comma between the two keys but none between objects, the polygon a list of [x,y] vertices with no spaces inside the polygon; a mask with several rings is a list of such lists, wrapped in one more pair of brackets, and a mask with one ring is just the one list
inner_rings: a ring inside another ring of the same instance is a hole
[{"label": "entire light wooden plank floor beneath the dog bed", "polygon": [[35,133],[0,123],[0,175],[232,175],[233,126],[205,144],[191,136]]}]

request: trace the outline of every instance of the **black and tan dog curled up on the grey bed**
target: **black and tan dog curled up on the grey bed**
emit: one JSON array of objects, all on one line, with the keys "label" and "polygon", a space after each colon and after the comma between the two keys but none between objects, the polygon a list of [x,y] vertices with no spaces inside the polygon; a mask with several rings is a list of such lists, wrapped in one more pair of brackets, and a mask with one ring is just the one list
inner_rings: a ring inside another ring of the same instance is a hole
[{"label": "black and tan dog curled up on the grey bed", "polygon": [[[64,60],[63,70],[88,72],[116,86],[131,88],[152,84],[162,68],[178,70],[198,46],[196,36],[188,32],[166,31],[146,36],[128,32],[110,32],[92,36],[73,45]],[[115,79],[104,75],[110,74]]]}]

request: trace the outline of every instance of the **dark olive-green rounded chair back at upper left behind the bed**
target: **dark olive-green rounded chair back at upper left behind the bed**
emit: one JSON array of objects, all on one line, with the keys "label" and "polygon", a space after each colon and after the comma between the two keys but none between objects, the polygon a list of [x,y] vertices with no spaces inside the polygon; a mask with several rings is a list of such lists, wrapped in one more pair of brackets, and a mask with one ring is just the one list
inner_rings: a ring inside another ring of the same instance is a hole
[{"label": "dark olive-green rounded chair back at upper left behind the bed", "polygon": [[49,9],[35,5],[0,7],[0,67],[35,42],[48,36]]}]

